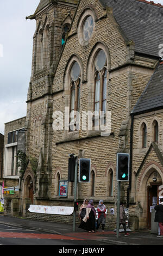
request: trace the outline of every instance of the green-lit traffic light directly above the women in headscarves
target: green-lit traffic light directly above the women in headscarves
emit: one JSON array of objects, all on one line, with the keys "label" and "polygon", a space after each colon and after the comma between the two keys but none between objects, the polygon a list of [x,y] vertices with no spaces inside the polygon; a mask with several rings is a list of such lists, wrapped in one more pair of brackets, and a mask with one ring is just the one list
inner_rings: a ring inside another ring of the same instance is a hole
[{"label": "green-lit traffic light directly above the women in headscarves", "polygon": [[79,160],[79,182],[90,182],[90,159]]}]

